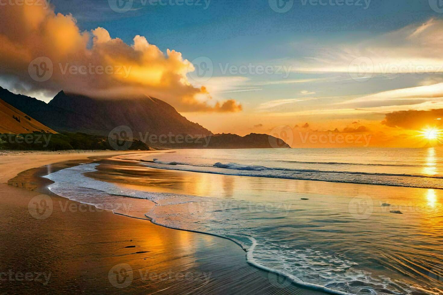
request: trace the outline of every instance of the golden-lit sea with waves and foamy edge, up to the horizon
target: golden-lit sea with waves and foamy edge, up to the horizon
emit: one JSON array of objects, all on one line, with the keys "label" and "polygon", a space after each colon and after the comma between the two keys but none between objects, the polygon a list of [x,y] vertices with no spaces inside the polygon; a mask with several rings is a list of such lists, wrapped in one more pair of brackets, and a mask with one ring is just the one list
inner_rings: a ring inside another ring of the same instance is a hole
[{"label": "golden-lit sea with waves and foamy edge, up to the horizon", "polygon": [[442,159],[437,148],[181,149],[46,177],[63,197],[228,238],[277,286],[442,294]]}]

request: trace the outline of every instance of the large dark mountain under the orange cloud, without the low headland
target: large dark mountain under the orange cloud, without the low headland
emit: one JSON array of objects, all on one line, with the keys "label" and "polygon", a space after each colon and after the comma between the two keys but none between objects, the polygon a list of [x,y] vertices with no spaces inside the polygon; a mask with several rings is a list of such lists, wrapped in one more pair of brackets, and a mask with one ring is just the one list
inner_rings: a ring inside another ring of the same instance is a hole
[{"label": "large dark mountain under the orange cloud, without the low headland", "polygon": [[118,126],[128,126],[135,138],[148,132],[157,135],[212,134],[180,115],[168,103],[149,96],[95,99],[61,91],[49,103],[44,103],[0,87],[0,98],[59,132],[108,135]]}]

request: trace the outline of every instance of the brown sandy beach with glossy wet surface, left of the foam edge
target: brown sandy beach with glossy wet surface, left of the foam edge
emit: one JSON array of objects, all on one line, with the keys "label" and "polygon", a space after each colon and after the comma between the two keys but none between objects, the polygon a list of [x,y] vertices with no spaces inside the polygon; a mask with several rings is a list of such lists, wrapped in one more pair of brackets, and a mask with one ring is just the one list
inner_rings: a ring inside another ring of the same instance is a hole
[{"label": "brown sandy beach with glossy wet surface, left of the foam edge", "polygon": [[232,241],[70,201],[49,192],[50,180],[39,177],[117,154],[0,156],[1,294],[320,294],[248,265]]}]

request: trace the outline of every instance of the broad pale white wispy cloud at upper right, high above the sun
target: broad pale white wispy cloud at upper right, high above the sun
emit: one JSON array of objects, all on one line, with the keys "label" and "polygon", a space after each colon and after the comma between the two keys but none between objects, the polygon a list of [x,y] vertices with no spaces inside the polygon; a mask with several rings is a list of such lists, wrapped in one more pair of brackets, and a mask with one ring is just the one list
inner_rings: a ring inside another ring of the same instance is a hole
[{"label": "broad pale white wispy cloud at upper right, high above the sun", "polygon": [[[303,73],[443,72],[443,20],[429,19],[353,44],[329,46],[292,63]],[[353,66],[355,59],[357,66]],[[361,60],[360,60],[361,59]]]}]

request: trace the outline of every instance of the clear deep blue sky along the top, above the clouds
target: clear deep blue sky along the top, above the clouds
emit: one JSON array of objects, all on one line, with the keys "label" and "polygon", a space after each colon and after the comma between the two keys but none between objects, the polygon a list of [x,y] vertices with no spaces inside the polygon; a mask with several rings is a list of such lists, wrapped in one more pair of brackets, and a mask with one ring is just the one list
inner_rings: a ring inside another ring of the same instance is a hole
[{"label": "clear deep blue sky along the top, above the clouds", "polygon": [[367,9],[364,0],[362,6],[341,7],[294,1],[286,13],[273,11],[267,0],[212,0],[207,9],[203,0],[202,6],[143,6],[139,0],[134,4],[139,10],[121,14],[107,0],[51,3],[57,12],[72,13],[85,30],[105,27],[127,43],[140,34],[162,50],[177,48],[189,58],[203,54],[234,62],[291,56],[285,48],[297,39],[345,41],[441,17],[427,0],[372,0]]}]

